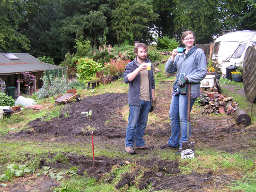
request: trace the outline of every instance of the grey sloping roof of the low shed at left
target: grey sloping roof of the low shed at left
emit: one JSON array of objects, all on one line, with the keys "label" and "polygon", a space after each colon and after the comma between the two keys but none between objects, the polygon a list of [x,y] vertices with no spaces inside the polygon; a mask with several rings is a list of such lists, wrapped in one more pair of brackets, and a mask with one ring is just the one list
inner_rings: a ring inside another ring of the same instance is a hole
[{"label": "grey sloping roof of the low shed at left", "polygon": [[60,66],[44,63],[28,53],[11,53],[20,58],[15,60],[10,60],[3,54],[6,53],[0,53],[0,75],[62,68]]}]

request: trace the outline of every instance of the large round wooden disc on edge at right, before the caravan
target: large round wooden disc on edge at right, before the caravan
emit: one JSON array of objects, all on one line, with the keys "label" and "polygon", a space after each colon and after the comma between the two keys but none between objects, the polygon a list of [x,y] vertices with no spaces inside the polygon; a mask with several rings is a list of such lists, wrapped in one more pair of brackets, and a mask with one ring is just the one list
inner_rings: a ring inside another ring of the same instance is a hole
[{"label": "large round wooden disc on edge at right, before the caravan", "polygon": [[256,100],[256,49],[249,46],[243,63],[243,84],[246,98],[249,102]]}]

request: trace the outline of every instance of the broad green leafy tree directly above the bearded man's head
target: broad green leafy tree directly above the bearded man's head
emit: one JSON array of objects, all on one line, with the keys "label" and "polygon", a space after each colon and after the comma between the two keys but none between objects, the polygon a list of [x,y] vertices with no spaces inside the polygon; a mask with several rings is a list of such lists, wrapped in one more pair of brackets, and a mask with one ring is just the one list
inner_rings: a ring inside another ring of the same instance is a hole
[{"label": "broad green leafy tree directly above the bearded man's head", "polygon": [[157,16],[150,0],[117,0],[111,24],[117,40],[121,42],[151,41],[150,30]]}]

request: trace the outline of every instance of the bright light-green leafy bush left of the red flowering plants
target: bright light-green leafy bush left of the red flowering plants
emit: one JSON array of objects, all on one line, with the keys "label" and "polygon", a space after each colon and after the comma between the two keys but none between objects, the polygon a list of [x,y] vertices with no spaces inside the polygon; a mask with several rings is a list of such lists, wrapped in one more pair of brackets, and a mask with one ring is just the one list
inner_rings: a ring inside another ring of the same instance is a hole
[{"label": "bright light-green leafy bush left of the red flowering plants", "polygon": [[100,71],[102,66],[93,58],[80,58],[76,62],[77,77],[80,82],[91,80],[96,71]]}]

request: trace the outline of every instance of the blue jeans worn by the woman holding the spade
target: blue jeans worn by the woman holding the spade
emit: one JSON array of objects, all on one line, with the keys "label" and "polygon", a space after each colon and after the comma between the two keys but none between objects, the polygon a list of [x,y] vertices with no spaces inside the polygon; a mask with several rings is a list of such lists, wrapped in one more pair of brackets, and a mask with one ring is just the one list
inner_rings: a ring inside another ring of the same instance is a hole
[{"label": "blue jeans worn by the woman holding the spade", "polygon": [[[190,100],[190,111],[195,100]],[[168,140],[168,144],[172,147],[182,146],[182,141],[187,141],[187,108],[188,108],[188,97],[186,95],[178,94],[172,96],[172,101],[170,105],[169,117],[171,120],[172,135]],[[180,126],[181,124],[181,126]],[[180,138],[180,128],[181,128],[181,138]],[[190,133],[191,135],[191,123],[190,123]],[[179,142],[180,139],[180,142]]]}]

